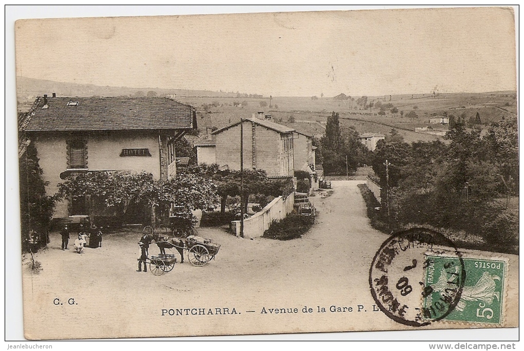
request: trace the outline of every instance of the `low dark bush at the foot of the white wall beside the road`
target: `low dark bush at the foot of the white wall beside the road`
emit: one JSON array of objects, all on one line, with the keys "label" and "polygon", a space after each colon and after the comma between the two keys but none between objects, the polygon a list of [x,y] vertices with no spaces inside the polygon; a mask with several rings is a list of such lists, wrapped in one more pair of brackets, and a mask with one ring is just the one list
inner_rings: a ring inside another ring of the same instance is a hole
[{"label": "low dark bush at the foot of the white wall beside the road", "polygon": [[264,232],[263,238],[277,240],[291,240],[301,238],[315,222],[314,217],[299,216],[292,212],[282,220],[274,220],[269,229]]}]

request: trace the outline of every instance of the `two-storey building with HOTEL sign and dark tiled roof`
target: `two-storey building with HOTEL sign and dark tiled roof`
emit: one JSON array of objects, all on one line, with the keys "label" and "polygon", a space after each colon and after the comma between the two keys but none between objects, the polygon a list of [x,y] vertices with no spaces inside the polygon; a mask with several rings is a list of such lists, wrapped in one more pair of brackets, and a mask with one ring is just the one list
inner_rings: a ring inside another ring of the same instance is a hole
[{"label": "two-storey building with HOTEL sign and dark tiled roof", "polygon": [[[195,109],[171,99],[38,97],[20,123],[34,143],[48,194],[81,172],[176,174],[174,142],[196,128]],[[22,152],[22,151],[20,151]],[[54,217],[88,215],[84,198],[58,203]]]}]

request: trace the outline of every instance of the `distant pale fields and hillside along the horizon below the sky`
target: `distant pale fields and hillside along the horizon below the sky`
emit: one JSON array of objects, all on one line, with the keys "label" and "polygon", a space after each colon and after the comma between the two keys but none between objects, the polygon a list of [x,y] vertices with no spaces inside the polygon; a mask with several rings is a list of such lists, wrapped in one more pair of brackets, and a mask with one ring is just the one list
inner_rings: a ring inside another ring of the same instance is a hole
[{"label": "distant pale fields and hillside along the horizon below the sky", "polygon": [[[99,87],[30,78],[19,80],[18,83],[20,83],[17,85],[19,112],[27,112],[36,95],[41,96],[43,93],[50,95],[53,91],[57,92],[58,96],[90,97],[130,96],[139,90],[146,93],[151,89]],[[315,97],[249,98],[232,92],[158,88],[152,90],[158,96],[169,96],[194,106],[201,133],[205,132],[206,127],[223,127],[263,111],[265,114],[271,114],[275,122],[286,124],[307,134],[322,135],[328,116],[332,112],[339,112],[341,125],[353,127],[359,133],[388,134],[391,128],[396,128],[406,142],[432,141],[439,137],[416,133],[414,128],[431,126],[445,131],[447,126],[429,124],[429,118],[433,115],[447,113],[469,120],[475,118],[478,113],[482,124],[486,127],[492,122],[499,121],[503,116],[517,113],[516,93],[511,91],[368,97],[367,101],[373,101],[375,107],[364,110],[356,104],[359,96],[354,96],[354,100],[337,100],[333,97],[321,96],[321,93]],[[378,102],[391,103],[398,109],[398,113],[394,115],[390,110],[386,110],[386,115],[377,115]],[[414,111],[417,117],[407,118],[410,111]]]}]

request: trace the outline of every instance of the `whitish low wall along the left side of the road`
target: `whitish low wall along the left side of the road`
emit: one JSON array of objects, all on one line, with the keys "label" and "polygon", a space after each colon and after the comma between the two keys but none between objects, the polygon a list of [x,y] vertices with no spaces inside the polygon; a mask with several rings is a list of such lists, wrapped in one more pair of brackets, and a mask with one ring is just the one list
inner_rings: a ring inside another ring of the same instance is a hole
[{"label": "whitish low wall along the left side of the road", "polygon": [[[280,220],[292,212],[294,204],[294,193],[284,199],[282,196],[276,197],[266,205],[260,212],[244,219],[244,238],[260,238],[264,231],[269,228],[273,220]],[[240,236],[240,221],[231,222],[231,229]]]}]

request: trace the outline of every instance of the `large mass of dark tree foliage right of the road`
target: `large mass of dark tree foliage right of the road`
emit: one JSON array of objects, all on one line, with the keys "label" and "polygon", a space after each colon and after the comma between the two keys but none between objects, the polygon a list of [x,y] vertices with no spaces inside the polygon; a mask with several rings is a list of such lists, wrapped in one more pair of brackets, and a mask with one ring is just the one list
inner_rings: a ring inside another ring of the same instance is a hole
[{"label": "large mass of dark tree foliage right of the road", "polygon": [[466,130],[462,119],[453,125],[446,143],[377,143],[373,169],[389,191],[382,213],[386,218],[389,198],[390,229],[409,223],[450,228],[480,235],[484,249],[513,252],[518,213],[500,200],[518,196],[517,118],[492,124],[484,137]]}]

